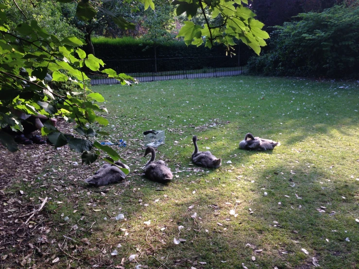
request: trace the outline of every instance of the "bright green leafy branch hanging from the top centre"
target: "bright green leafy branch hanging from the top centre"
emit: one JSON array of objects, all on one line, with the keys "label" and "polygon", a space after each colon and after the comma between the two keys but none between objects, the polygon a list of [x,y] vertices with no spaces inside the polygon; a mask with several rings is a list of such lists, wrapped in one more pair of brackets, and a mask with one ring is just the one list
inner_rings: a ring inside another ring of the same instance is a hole
[{"label": "bright green leafy branch hanging from the top centre", "polygon": [[205,19],[204,25],[186,21],[177,37],[183,36],[187,45],[196,46],[204,42],[204,37],[205,46],[209,48],[215,43],[230,48],[235,45],[234,39],[239,39],[259,55],[269,35],[261,30],[264,24],[254,18],[256,14],[243,3],[248,4],[247,0],[173,0],[177,16],[186,13],[191,19],[200,10]]}]

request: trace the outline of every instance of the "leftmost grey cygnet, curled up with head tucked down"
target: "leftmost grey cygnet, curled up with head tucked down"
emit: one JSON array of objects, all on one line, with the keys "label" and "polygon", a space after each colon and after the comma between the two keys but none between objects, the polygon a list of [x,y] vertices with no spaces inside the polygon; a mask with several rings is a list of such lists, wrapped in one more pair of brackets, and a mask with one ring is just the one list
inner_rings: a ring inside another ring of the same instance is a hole
[{"label": "leftmost grey cygnet, curled up with head tucked down", "polygon": [[[115,165],[130,171],[130,168],[122,162],[115,162]],[[104,164],[92,177],[87,178],[85,182],[95,186],[103,186],[125,179],[126,174],[117,166]]]}]

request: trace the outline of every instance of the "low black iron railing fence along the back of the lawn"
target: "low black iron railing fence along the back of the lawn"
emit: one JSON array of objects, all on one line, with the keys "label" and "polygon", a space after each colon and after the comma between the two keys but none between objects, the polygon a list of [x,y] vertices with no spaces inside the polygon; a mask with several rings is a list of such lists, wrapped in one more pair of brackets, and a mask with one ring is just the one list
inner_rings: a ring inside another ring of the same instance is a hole
[{"label": "low black iron railing fence along the back of the lawn", "polygon": [[[181,57],[136,60],[107,60],[106,68],[125,73],[138,82],[236,76],[246,73],[248,57]],[[117,84],[116,79],[90,75],[91,84]]]}]

